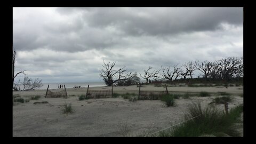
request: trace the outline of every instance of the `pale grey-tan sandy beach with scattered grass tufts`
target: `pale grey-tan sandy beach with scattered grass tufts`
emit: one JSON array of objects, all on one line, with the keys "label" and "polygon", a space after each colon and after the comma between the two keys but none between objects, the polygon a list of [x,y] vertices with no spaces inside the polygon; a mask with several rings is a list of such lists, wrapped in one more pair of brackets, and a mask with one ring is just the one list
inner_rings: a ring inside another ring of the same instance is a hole
[{"label": "pale grey-tan sandy beach with scattered grass tufts", "polygon": [[[90,87],[91,90],[108,90],[111,86]],[[101,98],[78,100],[80,94],[86,94],[87,88],[67,89],[69,97],[45,98],[46,90],[14,91],[13,95],[31,97],[40,95],[39,100],[26,103],[15,102],[13,106],[13,137],[123,137],[122,129],[129,131],[131,137],[143,133],[155,132],[178,123],[187,106],[193,101],[201,101],[203,105],[210,103],[216,96],[214,93],[227,92],[234,101],[229,109],[243,103],[243,86],[233,87],[167,87],[169,93],[197,93],[206,91],[211,97],[191,97],[177,99],[174,107],[166,107],[161,100],[138,100]],[[143,85],[141,90],[165,91],[165,87]],[[58,90],[51,90],[58,91]],[[114,93],[138,93],[139,87],[114,86]],[[71,96],[73,95],[73,96]],[[75,96],[74,96],[75,95]],[[48,103],[34,104],[47,101]],[[63,114],[61,109],[65,103],[72,103],[73,114]],[[223,109],[222,105],[218,106]],[[243,135],[241,129],[241,135]]]}]

